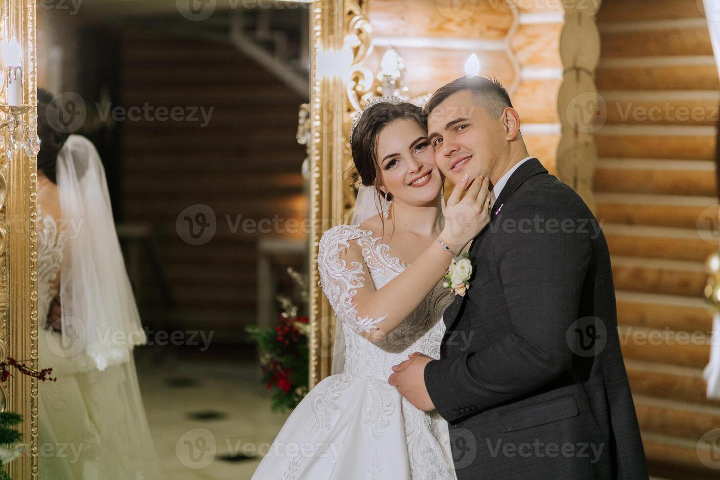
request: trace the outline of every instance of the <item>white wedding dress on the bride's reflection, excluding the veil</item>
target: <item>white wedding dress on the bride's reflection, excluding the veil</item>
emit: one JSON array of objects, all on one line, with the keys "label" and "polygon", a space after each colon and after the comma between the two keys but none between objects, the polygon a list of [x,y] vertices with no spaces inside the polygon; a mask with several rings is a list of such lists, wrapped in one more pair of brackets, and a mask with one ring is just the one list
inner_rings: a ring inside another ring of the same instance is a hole
[{"label": "white wedding dress on the bride's reflection, excluding the veil", "polygon": [[68,232],[38,205],[38,363],[58,379],[38,381],[39,478],[160,479],[143,406],[133,401],[140,394],[132,357],[99,371],[59,332],[45,329],[67,242]]}]

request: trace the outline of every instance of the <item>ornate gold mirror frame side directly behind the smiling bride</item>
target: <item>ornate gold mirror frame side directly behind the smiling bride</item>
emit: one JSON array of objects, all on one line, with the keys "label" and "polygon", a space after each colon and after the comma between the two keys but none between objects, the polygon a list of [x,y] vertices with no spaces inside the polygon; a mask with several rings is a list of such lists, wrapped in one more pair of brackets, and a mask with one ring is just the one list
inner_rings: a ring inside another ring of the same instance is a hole
[{"label": "ornate gold mirror frame side directly behind the smiling bride", "polygon": [[310,388],[330,374],[333,311],[318,285],[323,232],[343,221],[355,192],[343,181],[352,163],[348,135],[359,97],[372,76],[362,61],[372,49],[366,0],[318,0],[310,15]]}]

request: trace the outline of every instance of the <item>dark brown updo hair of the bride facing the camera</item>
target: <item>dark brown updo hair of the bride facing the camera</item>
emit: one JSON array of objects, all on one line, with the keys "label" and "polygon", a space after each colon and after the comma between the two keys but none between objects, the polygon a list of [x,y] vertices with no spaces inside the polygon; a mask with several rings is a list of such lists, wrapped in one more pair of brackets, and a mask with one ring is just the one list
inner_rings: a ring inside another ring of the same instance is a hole
[{"label": "dark brown updo hair of the bride facing the camera", "polygon": [[[364,110],[351,138],[353,163],[364,186],[374,186],[379,199],[383,194],[382,174],[377,158],[377,140],[380,132],[392,122],[397,120],[413,120],[423,130],[428,126],[423,116],[423,109],[407,101],[400,104],[391,104],[383,101]],[[412,139],[415,140],[415,139]],[[392,200],[392,194],[387,194],[387,201]],[[380,215],[382,219],[382,215]],[[383,221],[384,224],[384,221]]]}]

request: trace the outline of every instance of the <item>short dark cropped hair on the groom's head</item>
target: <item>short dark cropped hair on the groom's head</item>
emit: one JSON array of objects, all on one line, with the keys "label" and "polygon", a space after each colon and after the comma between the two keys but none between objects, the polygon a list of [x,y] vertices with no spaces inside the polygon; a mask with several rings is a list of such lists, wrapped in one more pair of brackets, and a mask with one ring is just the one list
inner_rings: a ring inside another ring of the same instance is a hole
[{"label": "short dark cropped hair on the groom's head", "polygon": [[466,75],[441,86],[425,104],[423,114],[429,116],[433,109],[441,104],[452,94],[459,91],[470,90],[480,105],[485,108],[487,114],[497,119],[507,107],[513,107],[510,95],[497,78],[485,78],[474,75]]}]

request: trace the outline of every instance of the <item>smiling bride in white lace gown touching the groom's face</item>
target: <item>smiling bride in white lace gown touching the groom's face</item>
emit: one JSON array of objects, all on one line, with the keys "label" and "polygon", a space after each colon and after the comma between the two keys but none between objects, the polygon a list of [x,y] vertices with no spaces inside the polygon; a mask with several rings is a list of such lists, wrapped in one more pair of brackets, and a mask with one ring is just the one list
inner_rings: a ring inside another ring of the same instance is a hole
[{"label": "smiling bride in white lace gown touching the groom's face", "polygon": [[446,422],[387,378],[412,353],[438,358],[451,302],[443,277],[489,222],[488,181],[466,176],[443,212],[421,110],[400,99],[364,109],[351,147],[363,184],[355,216],[325,232],[318,253],[344,338],[337,373],[294,409],[253,479],[454,479]]}]

